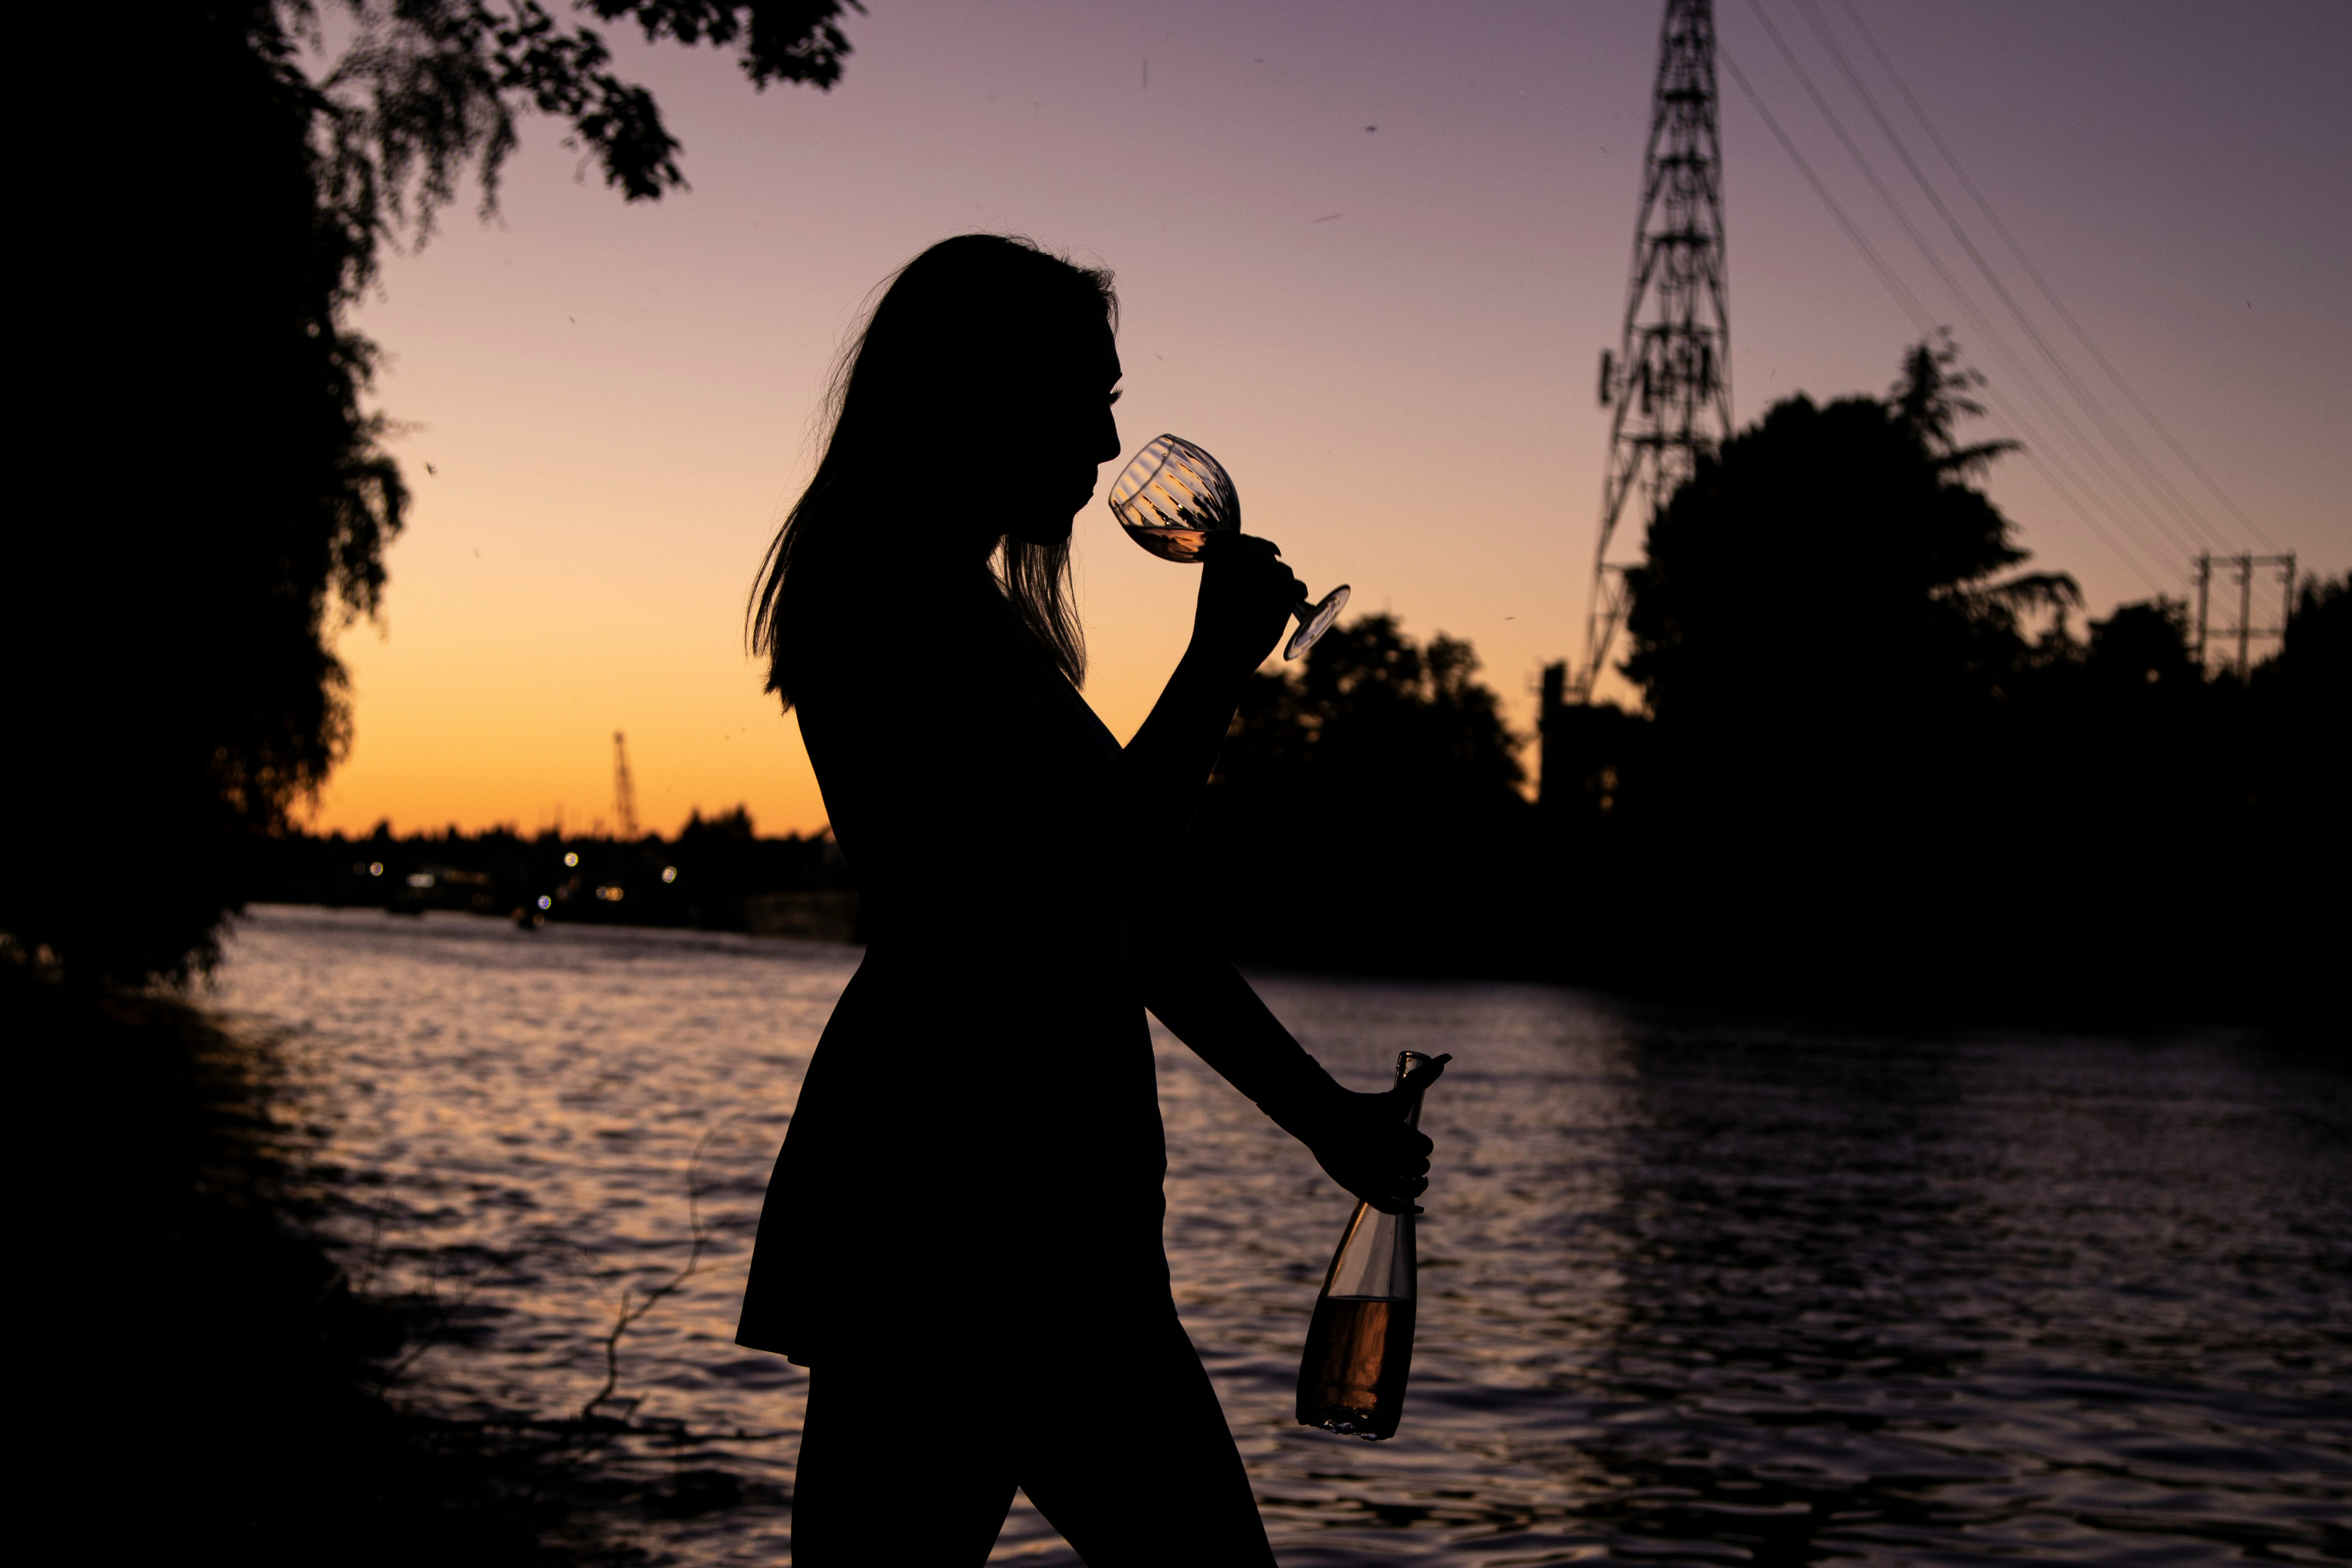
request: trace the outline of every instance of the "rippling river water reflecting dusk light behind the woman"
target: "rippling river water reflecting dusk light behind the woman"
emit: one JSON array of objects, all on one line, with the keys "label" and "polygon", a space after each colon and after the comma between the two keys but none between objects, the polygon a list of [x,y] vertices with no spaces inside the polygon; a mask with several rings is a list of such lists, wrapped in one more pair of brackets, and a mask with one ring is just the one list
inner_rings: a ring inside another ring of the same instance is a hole
[{"label": "rippling river water reflecting dusk light behind the woman", "polygon": [[[656,1563],[786,1563],[804,1380],[739,1349],[734,1312],[856,957],[261,907],[216,1001],[315,1086],[353,1272],[440,1302],[414,1401],[579,1413],[616,1312],[701,1227],[619,1338],[597,1413],[635,1434],[595,1460],[597,1528]],[[2352,1561],[2340,1060],[1536,985],[1261,992],[1359,1088],[1454,1053],[1404,1429],[1374,1446],[1289,1415],[1350,1201],[1157,1039],[1176,1302],[1284,1568]],[[964,1441],[915,1439],[910,1505],[920,1448]],[[1077,1559],[1021,1502],[993,1561]]]}]

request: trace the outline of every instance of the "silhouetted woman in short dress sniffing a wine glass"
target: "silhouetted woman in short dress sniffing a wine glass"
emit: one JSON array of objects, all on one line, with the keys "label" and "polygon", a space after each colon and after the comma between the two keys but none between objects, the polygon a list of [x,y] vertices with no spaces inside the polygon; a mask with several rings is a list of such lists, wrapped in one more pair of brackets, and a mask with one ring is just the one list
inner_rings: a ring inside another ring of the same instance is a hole
[{"label": "silhouetted woman in short dress sniffing a wine glass", "polygon": [[1115,313],[1108,273],[1025,240],[910,261],[753,599],[868,922],[736,1335],[809,1368],[800,1568],[981,1563],[1016,1486],[1094,1568],[1272,1563],[1169,1295],[1145,1006],[1350,1192],[1425,1187],[1395,1091],[1334,1084],[1160,870],[1298,581],[1211,541],[1127,748],[1075,689]]}]

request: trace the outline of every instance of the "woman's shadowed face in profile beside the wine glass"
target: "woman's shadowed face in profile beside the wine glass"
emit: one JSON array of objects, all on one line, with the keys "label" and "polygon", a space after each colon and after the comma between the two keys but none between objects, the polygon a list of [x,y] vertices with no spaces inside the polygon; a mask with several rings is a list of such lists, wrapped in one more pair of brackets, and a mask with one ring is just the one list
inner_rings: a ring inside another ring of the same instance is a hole
[{"label": "woman's shadowed face in profile beside the wine glass", "polygon": [[1002,531],[1028,545],[1058,545],[1094,501],[1101,465],[1120,456],[1110,411],[1120,400],[1120,346],[1110,322],[1094,317],[1042,339],[1025,383],[1004,411],[1002,461],[1014,473],[1002,491]]}]

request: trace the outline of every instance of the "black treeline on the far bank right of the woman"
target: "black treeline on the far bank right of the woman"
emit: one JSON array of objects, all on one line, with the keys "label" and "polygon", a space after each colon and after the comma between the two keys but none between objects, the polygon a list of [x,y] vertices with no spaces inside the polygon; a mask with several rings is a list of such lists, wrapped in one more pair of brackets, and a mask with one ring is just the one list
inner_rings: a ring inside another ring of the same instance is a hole
[{"label": "black treeline on the far bank right of the woman", "polygon": [[1950,343],[1773,404],[1630,574],[1644,712],[1548,672],[1541,792],[1468,644],[1371,616],[1261,675],[1183,875],[1244,959],[1947,1016],[2317,1018],[2345,943],[2352,576],[2209,675],[2074,632],[1973,484]]}]

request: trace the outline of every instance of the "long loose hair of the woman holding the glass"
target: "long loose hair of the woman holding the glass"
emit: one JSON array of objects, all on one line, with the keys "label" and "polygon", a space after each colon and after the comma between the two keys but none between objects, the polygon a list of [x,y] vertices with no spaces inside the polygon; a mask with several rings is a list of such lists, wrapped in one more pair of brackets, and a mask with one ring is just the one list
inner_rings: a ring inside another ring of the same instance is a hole
[{"label": "long loose hair of the woman holding the glass", "polygon": [[[750,646],[767,656],[767,689],[786,708],[814,649],[887,614],[884,595],[953,548],[924,529],[950,527],[955,494],[985,487],[985,416],[1021,395],[1040,343],[1073,324],[1117,324],[1117,310],[1110,273],[1016,235],[957,235],[898,268],[833,371],[826,456],[776,529],[750,597]],[[1044,654],[1082,682],[1070,541],[1007,536],[988,567]]]}]

